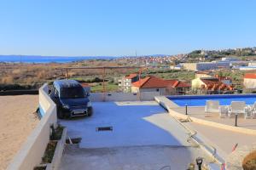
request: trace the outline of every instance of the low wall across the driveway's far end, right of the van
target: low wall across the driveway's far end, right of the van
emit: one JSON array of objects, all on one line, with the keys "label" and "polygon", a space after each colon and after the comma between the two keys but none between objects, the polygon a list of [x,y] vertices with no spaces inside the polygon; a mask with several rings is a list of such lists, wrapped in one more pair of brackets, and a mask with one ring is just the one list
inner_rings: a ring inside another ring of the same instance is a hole
[{"label": "low wall across the driveway's far end, right of the van", "polygon": [[158,92],[143,92],[140,94],[131,93],[91,93],[90,101],[137,101],[154,100],[154,96],[159,96]]}]

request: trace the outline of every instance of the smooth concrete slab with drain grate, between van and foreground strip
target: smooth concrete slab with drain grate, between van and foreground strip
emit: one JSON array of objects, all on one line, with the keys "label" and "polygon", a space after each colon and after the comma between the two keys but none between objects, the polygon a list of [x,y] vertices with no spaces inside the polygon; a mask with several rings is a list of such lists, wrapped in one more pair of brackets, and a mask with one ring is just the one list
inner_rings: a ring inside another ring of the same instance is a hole
[{"label": "smooth concrete slab with drain grate, between van and foreground strip", "polygon": [[[113,102],[94,103],[93,116],[62,120],[70,138],[81,137],[81,148],[136,145],[190,145],[188,131],[159,105],[134,105]],[[113,131],[96,131],[96,127]]]}]

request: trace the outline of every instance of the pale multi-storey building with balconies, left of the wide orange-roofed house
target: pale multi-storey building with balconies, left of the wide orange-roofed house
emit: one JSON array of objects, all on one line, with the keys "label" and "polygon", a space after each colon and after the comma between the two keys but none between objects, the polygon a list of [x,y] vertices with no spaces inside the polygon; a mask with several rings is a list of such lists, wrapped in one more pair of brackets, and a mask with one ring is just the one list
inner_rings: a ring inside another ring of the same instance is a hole
[{"label": "pale multi-storey building with balconies, left of the wide orange-roofed house", "polygon": [[121,77],[121,79],[119,79],[119,90],[125,93],[130,93],[131,83],[137,82],[138,79],[139,77],[137,74],[130,74],[129,76]]}]

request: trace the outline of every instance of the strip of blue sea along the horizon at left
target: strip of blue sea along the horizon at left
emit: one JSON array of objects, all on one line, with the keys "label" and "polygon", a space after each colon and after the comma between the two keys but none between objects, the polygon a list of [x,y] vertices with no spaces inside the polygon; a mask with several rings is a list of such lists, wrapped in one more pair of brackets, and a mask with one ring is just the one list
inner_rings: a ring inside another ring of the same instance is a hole
[{"label": "strip of blue sea along the horizon at left", "polygon": [[0,55],[0,62],[6,63],[69,63],[87,59],[116,59],[112,56],[38,56],[38,55]]}]

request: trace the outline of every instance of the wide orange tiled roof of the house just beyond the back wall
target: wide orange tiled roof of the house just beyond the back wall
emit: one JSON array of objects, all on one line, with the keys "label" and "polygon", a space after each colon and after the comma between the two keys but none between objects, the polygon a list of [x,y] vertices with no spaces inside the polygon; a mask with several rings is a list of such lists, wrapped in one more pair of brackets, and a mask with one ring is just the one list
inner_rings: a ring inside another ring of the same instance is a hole
[{"label": "wide orange tiled roof of the house just beyond the back wall", "polygon": [[132,86],[137,88],[189,88],[190,85],[178,80],[164,80],[158,77],[145,77],[137,82],[133,82]]}]

